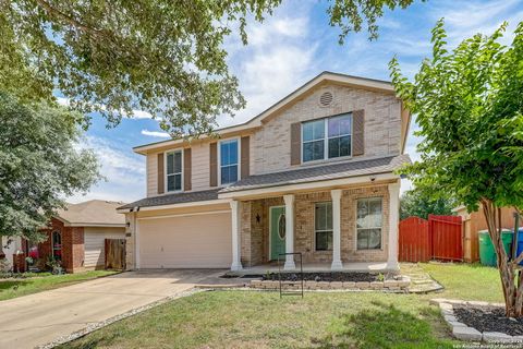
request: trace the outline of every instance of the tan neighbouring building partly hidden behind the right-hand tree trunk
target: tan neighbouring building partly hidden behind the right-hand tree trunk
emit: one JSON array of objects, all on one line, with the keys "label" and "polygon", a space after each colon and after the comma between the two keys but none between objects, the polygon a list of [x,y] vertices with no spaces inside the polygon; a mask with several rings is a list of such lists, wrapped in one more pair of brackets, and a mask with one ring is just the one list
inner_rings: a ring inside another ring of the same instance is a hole
[{"label": "tan neighbouring building partly hidden behind the right-hand tree trunk", "polygon": [[[479,204],[479,209],[469,213],[465,206],[459,206],[452,209],[463,221],[463,258],[465,262],[479,261],[479,241],[478,231],[487,230],[487,220]],[[514,213],[516,210],[511,207],[501,208],[501,228],[514,229]],[[520,221],[520,226],[523,222]]]}]

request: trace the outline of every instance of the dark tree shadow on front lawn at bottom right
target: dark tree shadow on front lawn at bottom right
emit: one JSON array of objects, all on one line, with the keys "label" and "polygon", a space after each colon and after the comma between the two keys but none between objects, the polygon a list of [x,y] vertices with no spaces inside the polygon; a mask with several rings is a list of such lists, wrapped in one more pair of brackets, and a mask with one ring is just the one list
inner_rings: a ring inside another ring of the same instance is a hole
[{"label": "dark tree shadow on front lawn at bottom right", "polygon": [[434,336],[430,327],[438,314],[425,308],[415,316],[393,304],[373,302],[375,308],[340,316],[329,335],[312,339],[315,348],[452,348],[448,340]]}]

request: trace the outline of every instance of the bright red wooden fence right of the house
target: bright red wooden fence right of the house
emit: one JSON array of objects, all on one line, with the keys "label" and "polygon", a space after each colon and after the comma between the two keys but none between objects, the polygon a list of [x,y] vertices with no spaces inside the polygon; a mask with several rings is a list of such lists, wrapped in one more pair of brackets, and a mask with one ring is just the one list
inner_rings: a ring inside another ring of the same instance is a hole
[{"label": "bright red wooden fence right of the house", "polygon": [[400,221],[400,262],[463,260],[463,234],[460,216],[429,215],[428,220],[409,217]]}]

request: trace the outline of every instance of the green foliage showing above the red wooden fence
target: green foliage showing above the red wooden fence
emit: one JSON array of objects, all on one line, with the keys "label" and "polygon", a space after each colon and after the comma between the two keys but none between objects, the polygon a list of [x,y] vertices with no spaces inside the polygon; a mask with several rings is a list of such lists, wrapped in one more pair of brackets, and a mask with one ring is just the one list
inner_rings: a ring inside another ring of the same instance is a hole
[{"label": "green foliage showing above the red wooden fence", "polygon": [[401,196],[400,218],[405,219],[411,216],[428,218],[428,215],[452,215],[452,208],[457,206],[451,197],[431,197],[429,192],[413,189]]}]

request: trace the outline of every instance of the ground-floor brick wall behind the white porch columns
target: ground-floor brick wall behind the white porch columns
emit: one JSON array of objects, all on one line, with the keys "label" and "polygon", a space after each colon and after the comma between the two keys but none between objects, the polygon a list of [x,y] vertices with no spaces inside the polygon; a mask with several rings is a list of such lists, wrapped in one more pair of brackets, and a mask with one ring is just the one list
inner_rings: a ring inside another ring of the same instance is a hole
[{"label": "ground-floor brick wall behind the white porch columns", "polygon": [[[382,197],[381,249],[356,249],[356,203],[363,197]],[[315,204],[331,201],[330,192],[296,194],[294,200],[294,252],[302,252],[304,263],[330,263],[332,251],[315,251]],[[244,267],[269,262],[269,208],[284,205],[283,197],[242,203],[241,261]],[[259,221],[256,217],[259,217]],[[387,185],[343,190],[341,196],[341,260],[386,262],[388,256],[389,191]]]}]

